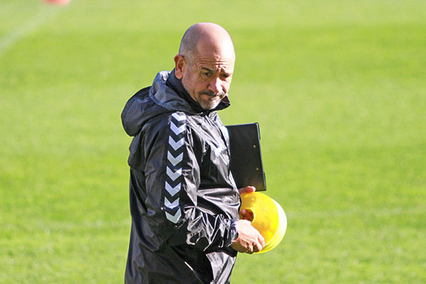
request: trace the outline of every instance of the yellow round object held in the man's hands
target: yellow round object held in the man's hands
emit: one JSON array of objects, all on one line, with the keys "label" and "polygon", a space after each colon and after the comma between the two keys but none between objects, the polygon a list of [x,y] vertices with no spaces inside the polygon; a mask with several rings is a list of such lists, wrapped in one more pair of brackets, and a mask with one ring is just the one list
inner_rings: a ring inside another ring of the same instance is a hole
[{"label": "yellow round object held in the man's hands", "polygon": [[249,192],[241,194],[240,212],[242,209],[252,214],[251,225],[265,239],[265,246],[258,253],[271,251],[280,244],[287,229],[287,217],[280,204],[261,192]]}]

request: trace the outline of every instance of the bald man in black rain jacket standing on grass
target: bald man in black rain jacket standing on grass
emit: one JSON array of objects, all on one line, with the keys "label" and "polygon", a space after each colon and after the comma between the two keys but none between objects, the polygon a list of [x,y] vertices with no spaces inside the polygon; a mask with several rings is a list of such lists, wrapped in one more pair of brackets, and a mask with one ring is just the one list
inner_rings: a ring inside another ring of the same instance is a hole
[{"label": "bald man in black rain jacket standing on grass", "polygon": [[121,114],[130,146],[132,217],[126,283],[229,283],[236,252],[265,245],[246,218],[229,172],[229,107],[235,52],[229,34],[197,23],[172,72],[159,72]]}]

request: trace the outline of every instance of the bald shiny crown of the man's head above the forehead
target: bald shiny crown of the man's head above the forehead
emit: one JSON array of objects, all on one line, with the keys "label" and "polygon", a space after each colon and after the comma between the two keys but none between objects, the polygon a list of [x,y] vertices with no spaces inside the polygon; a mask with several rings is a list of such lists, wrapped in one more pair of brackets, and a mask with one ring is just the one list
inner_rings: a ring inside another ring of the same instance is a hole
[{"label": "bald shiny crown of the man's head above the forehead", "polygon": [[206,49],[235,58],[234,43],[222,26],[216,23],[196,23],[190,26],[182,37],[179,53],[192,61],[194,56]]}]

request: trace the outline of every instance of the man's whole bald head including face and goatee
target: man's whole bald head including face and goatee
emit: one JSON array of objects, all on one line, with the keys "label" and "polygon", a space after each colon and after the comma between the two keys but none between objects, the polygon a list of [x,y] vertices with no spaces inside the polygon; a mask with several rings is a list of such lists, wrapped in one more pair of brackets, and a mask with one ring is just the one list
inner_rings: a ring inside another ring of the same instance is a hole
[{"label": "man's whole bald head including face and goatee", "polygon": [[175,55],[175,76],[203,109],[214,109],[227,95],[234,73],[231,36],[215,23],[188,28]]}]

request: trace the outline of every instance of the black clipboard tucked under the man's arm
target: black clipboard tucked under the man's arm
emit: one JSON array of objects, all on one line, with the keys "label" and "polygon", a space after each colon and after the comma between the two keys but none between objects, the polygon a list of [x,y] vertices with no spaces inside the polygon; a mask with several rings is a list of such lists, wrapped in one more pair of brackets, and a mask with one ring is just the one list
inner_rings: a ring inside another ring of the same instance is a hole
[{"label": "black clipboard tucked under the man's arm", "polygon": [[251,185],[256,187],[256,191],[266,190],[259,124],[229,125],[226,129],[229,133],[231,173],[236,187]]}]

